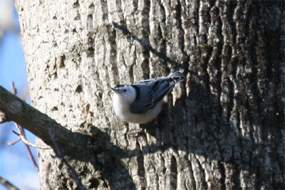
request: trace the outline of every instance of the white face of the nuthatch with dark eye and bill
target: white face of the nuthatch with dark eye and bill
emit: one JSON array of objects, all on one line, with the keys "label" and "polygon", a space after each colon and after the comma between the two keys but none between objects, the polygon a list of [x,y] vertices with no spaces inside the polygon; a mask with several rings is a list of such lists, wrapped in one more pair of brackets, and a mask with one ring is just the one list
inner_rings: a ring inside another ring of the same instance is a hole
[{"label": "white face of the nuthatch with dark eye and bill", "polygon": [[130,85],[117,85],[113,88],[115,94],[123,97],[126,102],[133,102],[135,100],[135,88]]}]

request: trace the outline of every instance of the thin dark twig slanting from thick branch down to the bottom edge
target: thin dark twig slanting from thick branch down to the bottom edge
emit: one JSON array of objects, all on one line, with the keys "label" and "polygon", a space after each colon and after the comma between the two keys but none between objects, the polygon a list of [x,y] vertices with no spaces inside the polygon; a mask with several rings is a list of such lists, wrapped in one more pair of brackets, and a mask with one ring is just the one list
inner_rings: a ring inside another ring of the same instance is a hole
[{"label": "thin dark twig slanting from thick branch down to the bottom edge", "polygon": [[86,189],[86,187],[83,186],[83,184],[81,183],[81,180],[78,178],[78,175],[76,174],[76,170],[73,167],[71,167],[71,165],[68,164],[68,162],[64,158],[63,152],[61,151],[61,148],[59,147],[59,145],[57,143],[56,132],[53,130],[53,128],[49,128],[48,131],[49,131],[49,134],[51,135],[51,139],[53,141],[53,144],[56,147],[56,154],[58,155],[59,159],[61,159],[61,162],[66,164],[66,166],[68,167],[69,171],[71,172],[71,175],[73,176],[73,179],[76,181],[76,184],[78,185],[78,187],[80,189]]}]

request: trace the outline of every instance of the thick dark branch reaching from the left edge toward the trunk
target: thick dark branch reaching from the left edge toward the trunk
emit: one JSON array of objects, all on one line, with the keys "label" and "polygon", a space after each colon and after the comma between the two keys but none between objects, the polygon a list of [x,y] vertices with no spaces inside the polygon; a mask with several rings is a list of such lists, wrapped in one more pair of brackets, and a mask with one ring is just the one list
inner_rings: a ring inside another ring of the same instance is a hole
[{"label": "thick dark branch reaching from the left edge toward the trunk", "polygon": [[[79,151],[79,144],[86,144],[85,140],[79,140],[76,133],[67,130],[65,127],[52,120],[48,115],[39,112],[35,108],[22,101],[19,97],[9,93],[8,90],[0,85],[0,123],[14,121],[26,130],[35,134],[37,137],[48,144],[56,153],[48,130],[51,128],[56,133],[58,144],[66,155],[75,155]],[[79,144],[78,144],[79,143]]]}]

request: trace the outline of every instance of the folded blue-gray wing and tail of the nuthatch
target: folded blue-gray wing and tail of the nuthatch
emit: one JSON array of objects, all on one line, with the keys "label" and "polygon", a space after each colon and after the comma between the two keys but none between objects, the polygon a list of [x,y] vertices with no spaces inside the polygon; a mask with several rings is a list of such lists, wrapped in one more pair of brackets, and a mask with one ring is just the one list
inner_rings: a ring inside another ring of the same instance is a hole
[{"label": "folded blue-gray wing and tail of the nuthatch", "polygon": [[138,93],[135,102],[130,105],[130,112],[140,114],[152,109],[170,93],[176,83],[184,78],[182,73],[175,72],[170,73],[166,78],[143,80],[133,84]]}]

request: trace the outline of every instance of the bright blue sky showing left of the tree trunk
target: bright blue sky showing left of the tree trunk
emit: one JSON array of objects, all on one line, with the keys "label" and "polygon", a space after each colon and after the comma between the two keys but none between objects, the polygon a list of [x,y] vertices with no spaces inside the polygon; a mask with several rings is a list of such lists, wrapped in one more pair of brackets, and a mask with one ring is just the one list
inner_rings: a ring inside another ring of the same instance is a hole
[{"label": "bright blue sky showing left of the tree trunk", "polygon": [[[13,22],[16,31],[19,31],[19,20],[15,9],[13,10]],[[6,31],[0,37],[0,85],[11,92],[11,81],[14,81],[18,90],[17,95],[30,103],[24,51],[21,36],[16,31]],[[38,173],[28,157],[23,142],[18,142],[13,146],[7,145],[7,142],[18,139],[11,130],[17,131],[12,122],[0,125],[0,176],[19,189],[39,189]],[[29,141],[35,142],[33,134],[26,131],[26,135]],[[37,159],[36,149],[31,147],[31,151]],[[5,188],[0,184],[0,190],[2,189]]]}]

